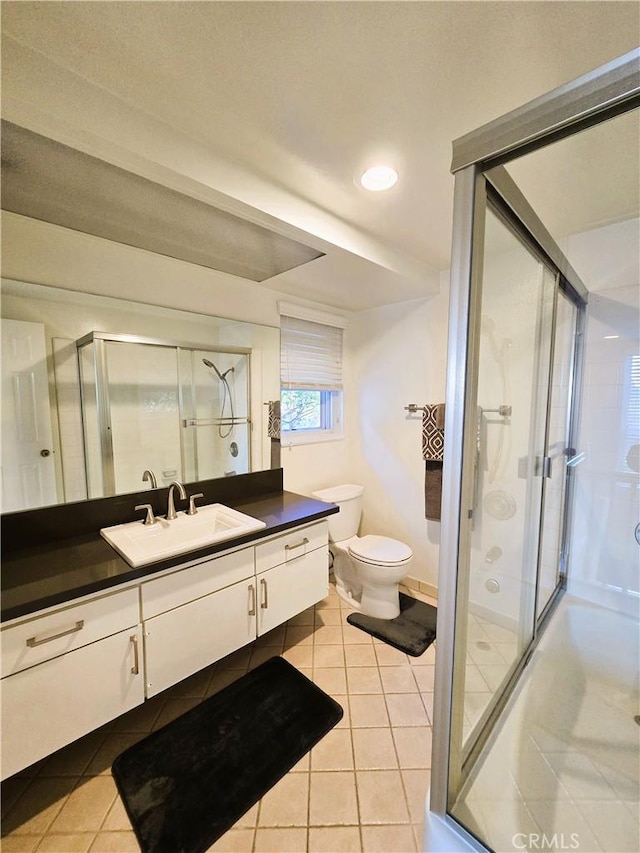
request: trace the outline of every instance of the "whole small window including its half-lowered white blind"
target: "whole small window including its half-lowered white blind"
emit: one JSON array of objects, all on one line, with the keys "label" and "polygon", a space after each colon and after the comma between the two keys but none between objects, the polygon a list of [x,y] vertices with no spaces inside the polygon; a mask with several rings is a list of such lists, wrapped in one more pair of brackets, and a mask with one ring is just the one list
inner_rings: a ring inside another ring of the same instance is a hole
[{"label": "whole small window including its half-lowered white blind", "polygon": [[[296,310],[293,306],[289,310],[292,308]],[[310,313],[301,310],[307,316]],[[341,438],[343,330],[327,322],[290,316],[282,307],[281,312],[283,443]],[[340,322],[340,318],[335,320]]]}]

